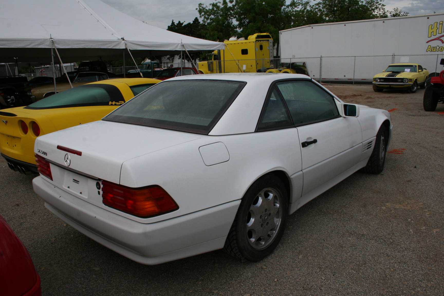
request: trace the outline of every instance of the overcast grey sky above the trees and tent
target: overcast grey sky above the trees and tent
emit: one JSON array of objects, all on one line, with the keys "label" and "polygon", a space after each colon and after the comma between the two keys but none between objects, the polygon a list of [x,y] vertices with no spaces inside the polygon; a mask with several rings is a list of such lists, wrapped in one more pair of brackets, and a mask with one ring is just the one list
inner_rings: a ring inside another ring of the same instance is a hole
[{"label": "overcast grey sky above the trees and tent", "polygon": [[[199,16],[199,3],[209,4],[213,0],[102,0],[108,5],[138,20],[166,29],[171,20],[186,23]],[[287,0],[287,2],[289,2]],[[386,8],[401,8],[410,16],[444,12],[444,0],[385,0]]]}]

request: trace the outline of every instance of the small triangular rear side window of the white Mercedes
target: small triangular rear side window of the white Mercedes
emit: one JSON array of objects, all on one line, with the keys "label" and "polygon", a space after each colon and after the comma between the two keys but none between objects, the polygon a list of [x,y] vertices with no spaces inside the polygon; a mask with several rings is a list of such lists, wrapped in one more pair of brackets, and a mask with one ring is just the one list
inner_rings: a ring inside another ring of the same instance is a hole
[{"label": "small triangular rear side window of the white Mercedes", "polygon": [[270,98],[266,99],[266,107],[262,111],[262,116],[258,125],[258,130],[269,130],[280,127],[293,126],[285,104],[281,96],[273,87]]}]

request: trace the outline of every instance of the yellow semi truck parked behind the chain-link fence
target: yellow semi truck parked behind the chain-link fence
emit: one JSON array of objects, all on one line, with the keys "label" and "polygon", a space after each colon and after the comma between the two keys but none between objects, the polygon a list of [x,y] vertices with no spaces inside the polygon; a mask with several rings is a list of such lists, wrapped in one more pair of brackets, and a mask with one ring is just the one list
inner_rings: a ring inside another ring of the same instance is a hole
[{"label": "yellow semi truck parked behind the chain-link fence", "polygon": [[305,63],[280,63],[273,56],[273,39],[269,33],[225,40],[225,49],[213,51],[210,60],[198,63],[202,74],[274,72],[309,75]]}]

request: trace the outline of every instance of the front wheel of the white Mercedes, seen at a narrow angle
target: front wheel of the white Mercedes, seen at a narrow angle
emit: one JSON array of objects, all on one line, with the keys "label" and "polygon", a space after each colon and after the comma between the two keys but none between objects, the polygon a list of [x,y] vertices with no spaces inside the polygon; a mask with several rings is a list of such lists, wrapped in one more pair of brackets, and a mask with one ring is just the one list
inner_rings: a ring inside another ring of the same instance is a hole
[{"label": "front wheel of the white Mercedes, seen at a narrow angle", "polygon": [[384,170],[388,140],[389,131],[384,125],[382,125],[376,134],[375,146],[373,147],[372,155],[370,155],[367,165],[361,169],[361,172],[380,174]]}]

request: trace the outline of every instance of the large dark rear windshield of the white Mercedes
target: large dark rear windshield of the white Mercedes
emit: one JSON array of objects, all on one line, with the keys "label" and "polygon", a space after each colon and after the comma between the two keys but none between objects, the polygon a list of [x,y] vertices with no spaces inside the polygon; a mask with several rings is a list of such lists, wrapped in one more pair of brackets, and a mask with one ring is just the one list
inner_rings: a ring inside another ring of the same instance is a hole
[{"label": "large dark rear windshield of the white Mercedes", "polygon": [[225,80],[166,81],[103,120],[208,134],[244,85]]}]

